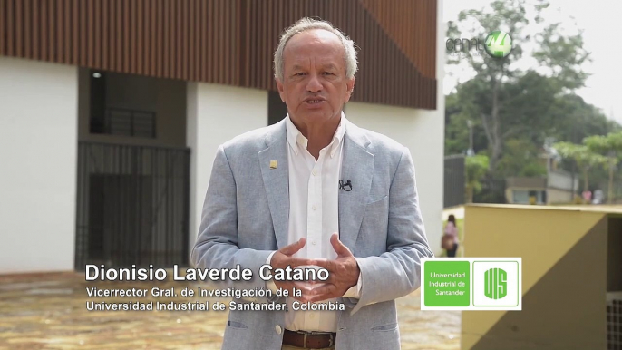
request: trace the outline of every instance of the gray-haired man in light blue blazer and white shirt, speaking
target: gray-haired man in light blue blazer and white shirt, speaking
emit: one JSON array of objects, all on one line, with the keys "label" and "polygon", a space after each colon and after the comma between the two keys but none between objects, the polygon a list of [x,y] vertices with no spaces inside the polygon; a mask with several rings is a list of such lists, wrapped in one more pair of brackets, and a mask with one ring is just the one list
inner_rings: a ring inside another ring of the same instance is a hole
[{"label": "gray-haired man in light blue blazer and white shirt, speaking", "polygon": [[[287,312],[230,310],[223,349],[400,348],[394,299],[420,286],[432,251],[410,152],[345,119],[355,72],[350,39],[326,22],[298,21],[275,53],[287,117],[219,147],[192,262],[256,276],[226,287],[302,291],[287,297]],[[265,264],[323,267],[330,277],[265,282]],[[296,301],[345,310],[295,311]]]}]

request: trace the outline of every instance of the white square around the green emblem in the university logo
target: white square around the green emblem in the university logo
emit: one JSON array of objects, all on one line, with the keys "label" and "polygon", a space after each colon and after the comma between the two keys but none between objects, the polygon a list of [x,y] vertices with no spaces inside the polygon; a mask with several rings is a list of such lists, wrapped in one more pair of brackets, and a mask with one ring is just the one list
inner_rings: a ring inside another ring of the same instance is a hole
[{"label": "white square around the green emblem in the university logo", "polygon": [[[501,299],[491,299],[484,294],[484,273],[491,268],[501,268],[508,274],[508,295]],[[519,305],[519,264],[516,261],[474,261],[472,280],[473,306]]]}]

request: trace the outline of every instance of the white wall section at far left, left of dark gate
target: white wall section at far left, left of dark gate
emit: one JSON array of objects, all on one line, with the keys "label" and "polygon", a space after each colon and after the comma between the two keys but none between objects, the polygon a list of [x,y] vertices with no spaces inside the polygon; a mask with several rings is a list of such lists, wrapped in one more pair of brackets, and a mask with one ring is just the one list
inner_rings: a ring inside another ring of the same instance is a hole
[{"label": "white wall section at far left, left of dark gate", "polygon": [[73,270],[78,69],[0,57],[0,274]]}]

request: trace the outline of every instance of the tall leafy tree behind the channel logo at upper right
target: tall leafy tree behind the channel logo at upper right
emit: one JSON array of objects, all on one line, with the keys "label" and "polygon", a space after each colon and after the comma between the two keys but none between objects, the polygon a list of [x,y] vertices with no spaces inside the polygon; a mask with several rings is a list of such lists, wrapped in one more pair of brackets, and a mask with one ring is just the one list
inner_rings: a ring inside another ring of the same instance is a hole
[{"label": "tall leafy tree behind the channel logo at upper right", "polygon": [[[465,104],[462,112],[468,113],[470,119],[481,120],[491,155],[491,171],[496,170],[510,138],[527,134],[541,144],[546,131],[555,123],[546,117],[555,97],[583,86],[587,78],[581,67],[588,60],[581,33],[568,35],[559,24],[549,24],[534,38],[524,34],[530,21],[542,23],[541,11],[546,7],[545,1],[528,4],[525,0],[496,0],[487,9],[462,11],[458,22],[448,25],[450,39],[483,39],[495,30],[503,30],[512,38],[512,51],[503,59],[485,53],[448,54],[447,59],[449,64],[466,61],[475,73],[469,92],[463,94],[468,100],[461,99],[460,104]],[[528,8],[535,14],[533,18],[527,17]],[[528,42],[535,42],[532,56],[549,68],[548,73],[522,72],[512,66],[520,60],[522,45]]]}]

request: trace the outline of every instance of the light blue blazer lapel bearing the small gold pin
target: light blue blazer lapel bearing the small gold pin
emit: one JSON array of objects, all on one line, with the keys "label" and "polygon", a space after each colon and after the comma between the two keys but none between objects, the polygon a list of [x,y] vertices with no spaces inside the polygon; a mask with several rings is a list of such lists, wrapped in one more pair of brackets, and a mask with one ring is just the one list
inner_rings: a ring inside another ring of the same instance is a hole
[{"label": "light blue blazer lapel bearing the small gold pin", "polygon": [[287,246],[289,217],[289,168],[287,163],[286,124],[279,122],[266,136],[267,149],[259,151],[259,166],[266,189],[278,248]]}]

